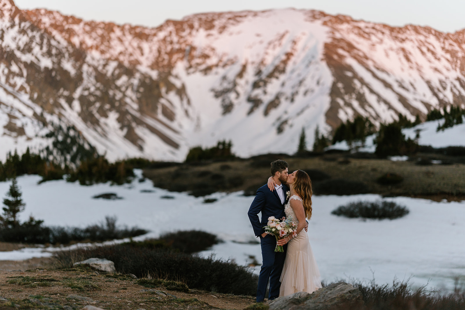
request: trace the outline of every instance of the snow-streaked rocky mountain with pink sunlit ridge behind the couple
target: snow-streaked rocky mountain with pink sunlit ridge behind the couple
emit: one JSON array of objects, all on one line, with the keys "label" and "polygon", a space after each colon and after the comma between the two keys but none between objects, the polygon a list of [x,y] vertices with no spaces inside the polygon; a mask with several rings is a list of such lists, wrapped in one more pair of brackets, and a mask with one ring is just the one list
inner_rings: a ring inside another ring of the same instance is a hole
[{"label": "snow-streaked rocky mountain with pink sunlit ridge behind the couple", "polygon": [[156,28],[20,10],[0,0],[0,159],[73,125],[107,158],[183,160],[231,139],[296,151],[317,125],[465,106],[465,30],[319,11],[205,13]]}]

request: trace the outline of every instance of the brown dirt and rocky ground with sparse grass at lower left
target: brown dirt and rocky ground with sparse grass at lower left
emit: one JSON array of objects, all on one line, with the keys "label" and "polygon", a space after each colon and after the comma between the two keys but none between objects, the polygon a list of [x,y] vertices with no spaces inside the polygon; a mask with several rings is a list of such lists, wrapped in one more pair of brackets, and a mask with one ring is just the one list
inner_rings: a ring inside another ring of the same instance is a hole
[{"label": "brown dirt and rocky ground with sparse grass at lower left", "polygon": [[[0,262],[0,310],[79,310],[86,305],[108,310],[244,309],[254,302],[248,296],[145,288],[132,277],[89,269],[43,268],[50,263],[50,259]],[[41,268],[26,270],[34,264]]]}]

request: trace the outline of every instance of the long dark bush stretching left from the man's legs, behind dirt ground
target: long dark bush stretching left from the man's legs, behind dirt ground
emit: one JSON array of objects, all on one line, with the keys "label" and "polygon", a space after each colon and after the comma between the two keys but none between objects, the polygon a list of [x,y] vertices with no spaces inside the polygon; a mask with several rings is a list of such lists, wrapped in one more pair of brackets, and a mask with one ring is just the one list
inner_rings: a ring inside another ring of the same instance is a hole
[{"label": "long dark bush stretching left from the man's legs, behind dirt ground", "polygon": [[57,262],[65,268],[74,262],[90,258],[106,258],[114,262],[121,273],[137,277],[148,274],[165,280],[181,280],[191,289],[219,293],[250,295],[257,290],[258,277],[246,267],[231,261],[203,258],[165,249],[136,248],[130,245],[111,245],[74,251],[59,251]]}]

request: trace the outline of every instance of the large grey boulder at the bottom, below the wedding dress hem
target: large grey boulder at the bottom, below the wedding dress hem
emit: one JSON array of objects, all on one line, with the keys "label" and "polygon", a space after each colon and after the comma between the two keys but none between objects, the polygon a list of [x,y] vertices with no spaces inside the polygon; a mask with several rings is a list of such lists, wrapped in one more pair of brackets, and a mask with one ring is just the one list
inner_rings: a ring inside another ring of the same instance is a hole
[{"label": "large grey boulder at the bottom, below the wedding dress hem", "polygon": [[298,292],[266,302],[270,310],[357,309],[363,305],[359,289],[344,282],[333,283],[312,294]]}]

